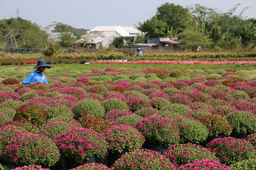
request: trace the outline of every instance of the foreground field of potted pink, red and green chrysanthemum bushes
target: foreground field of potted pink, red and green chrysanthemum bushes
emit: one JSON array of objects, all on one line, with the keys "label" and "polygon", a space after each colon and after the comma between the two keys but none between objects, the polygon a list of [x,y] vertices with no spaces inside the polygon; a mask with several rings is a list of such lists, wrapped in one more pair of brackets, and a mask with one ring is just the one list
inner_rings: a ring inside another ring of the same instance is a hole
[{"label": "foreground field of potted pink, red and green chrysanthemum bushes", "polygon": [[15,170],[247,170],[256,71],[0,69],[0,163]]}]

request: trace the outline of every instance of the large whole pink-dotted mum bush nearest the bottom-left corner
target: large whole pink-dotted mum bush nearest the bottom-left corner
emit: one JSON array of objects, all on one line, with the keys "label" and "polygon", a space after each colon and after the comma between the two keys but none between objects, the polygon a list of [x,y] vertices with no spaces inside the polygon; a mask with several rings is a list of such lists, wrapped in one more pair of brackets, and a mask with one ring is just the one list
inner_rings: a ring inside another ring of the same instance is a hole
[{"label": "large whole pink-dotted mum bush nearest the bottom-left corner", "polygon": [[1,156],[6,162],[16,165],[54,165],[60,153],[53,141],[44,135],[25,133],[5,146]]}]

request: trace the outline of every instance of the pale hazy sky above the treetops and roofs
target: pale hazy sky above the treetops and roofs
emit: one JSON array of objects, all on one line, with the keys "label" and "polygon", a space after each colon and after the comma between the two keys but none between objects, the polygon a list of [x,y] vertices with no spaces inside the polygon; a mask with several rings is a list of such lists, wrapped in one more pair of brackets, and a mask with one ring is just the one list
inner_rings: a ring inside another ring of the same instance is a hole
[{"label": "pale hazy sky above the treetops and roofs", "polygon": [[157,6],[163,3],[186,5],[200,4],[217,8],[225,13],[236,4],[239,14],[244,8],[244,17],[256,18],[256,0],[0,0],[0,19],[20,17],[42,27],[52,22],[62,22],[77,29],[93,29],[95,26],[134,26],[156,14]]}]

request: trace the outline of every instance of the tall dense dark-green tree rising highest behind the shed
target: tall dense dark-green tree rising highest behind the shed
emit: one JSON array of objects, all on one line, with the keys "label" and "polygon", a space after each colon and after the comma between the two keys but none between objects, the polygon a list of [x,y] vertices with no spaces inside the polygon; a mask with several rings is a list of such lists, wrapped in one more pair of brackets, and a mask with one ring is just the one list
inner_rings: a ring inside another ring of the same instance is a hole
[{"label": "tall dense dark-green tree rising highest behind the shed", "polygon": [[170,28],[173,27],[173,29],[178,32],[190,28],[192,25],[189,10],[180,5],[169,3],[162,4],[157,7],[156,17],[158,20],[165,22],[167,26]]}]

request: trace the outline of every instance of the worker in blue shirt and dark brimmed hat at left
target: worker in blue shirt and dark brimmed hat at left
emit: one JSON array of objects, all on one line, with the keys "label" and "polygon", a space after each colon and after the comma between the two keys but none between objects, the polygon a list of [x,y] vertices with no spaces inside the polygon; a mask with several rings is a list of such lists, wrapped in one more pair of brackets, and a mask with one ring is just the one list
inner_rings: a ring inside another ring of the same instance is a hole
[{"label": "worker in blue shirt and dark brimmed hat at left", "polygon": [[38,60],[37,66],[33,68],[36,70],[30,73],[28,77],[23,80],[22,84],[24,84],[25,86],[33,84],[35,82],[48,84],[45,74],[43,73],[46,68],[51,68],[51,66],[46,63],[45,59]]}]

